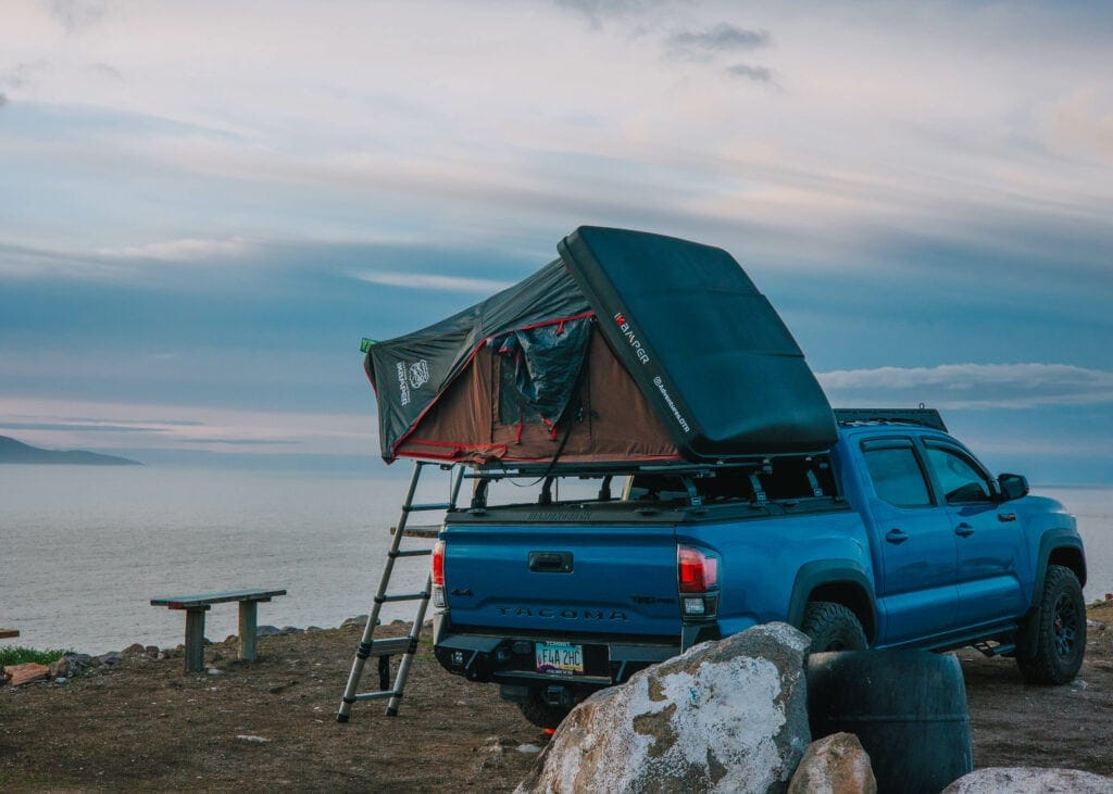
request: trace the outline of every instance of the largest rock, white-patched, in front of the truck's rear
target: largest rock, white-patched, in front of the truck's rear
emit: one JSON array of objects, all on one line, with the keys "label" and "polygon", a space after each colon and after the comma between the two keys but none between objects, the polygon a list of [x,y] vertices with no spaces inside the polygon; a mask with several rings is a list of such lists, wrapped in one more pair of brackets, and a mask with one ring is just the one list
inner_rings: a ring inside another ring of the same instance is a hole
[{"label": "largest rock, white-patched, in front of the truck's rear", "polygon": [[784,792],[808,746],[804,654],[788,624],[703,643],[595,693],[519,792]]}]

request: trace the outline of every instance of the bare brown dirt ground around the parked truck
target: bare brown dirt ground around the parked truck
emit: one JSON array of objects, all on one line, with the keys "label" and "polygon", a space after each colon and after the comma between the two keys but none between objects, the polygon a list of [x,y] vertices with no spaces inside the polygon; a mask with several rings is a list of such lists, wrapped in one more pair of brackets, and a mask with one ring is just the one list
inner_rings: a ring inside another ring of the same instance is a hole
[{"label": "bare brown dirt ground around the parked truck", "polygon": [[[1113,775],[1113,605],[1090,616],[1099,625],[1068,686],[1027,686],[1011,659],[958,653],[975,766]],[[397,717],[364,702],[338,724],[358,637],[267,637],[253,664],[213,645],[219,675],[136,657],[63,685],[0,689],[0,790],[509,791],[525,775],[536,756],[520,748],[545,735],[494,686],[443,672],[427,643]],[[364,688],[376,682],[372,661]]]}]

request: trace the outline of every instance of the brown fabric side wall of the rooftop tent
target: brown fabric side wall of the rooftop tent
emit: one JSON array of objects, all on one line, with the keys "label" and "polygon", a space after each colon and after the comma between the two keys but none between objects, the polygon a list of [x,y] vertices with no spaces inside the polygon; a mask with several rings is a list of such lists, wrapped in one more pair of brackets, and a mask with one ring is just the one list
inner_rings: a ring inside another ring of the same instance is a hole
[{"label": "brown fabric side wall of the rooftop tent", "polygon": [[483,345],[395,455],[476,465],[546,464],[558,453],[562,464],[678,459],[660,419],[598,327],[588,345],[572,403],[554,427],[505,421],[502,368],[512,361]]}]

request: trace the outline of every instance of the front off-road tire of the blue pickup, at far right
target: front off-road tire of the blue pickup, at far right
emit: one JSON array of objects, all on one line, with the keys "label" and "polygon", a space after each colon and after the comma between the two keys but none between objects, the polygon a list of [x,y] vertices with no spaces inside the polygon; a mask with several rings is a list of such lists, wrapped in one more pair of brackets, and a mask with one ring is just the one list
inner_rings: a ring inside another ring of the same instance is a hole
[{"label": "front off-road tire of the blue pickup, at far right", "polygon": [[[1016,666],[1030,684],[1066,684],[1074,681],[1086,653],[1086,603],[1074,572],[1048,565],[1036,622],[1035,653],[1017,649]],[[1023,632],[1022,632],[1023,633]]]}]

